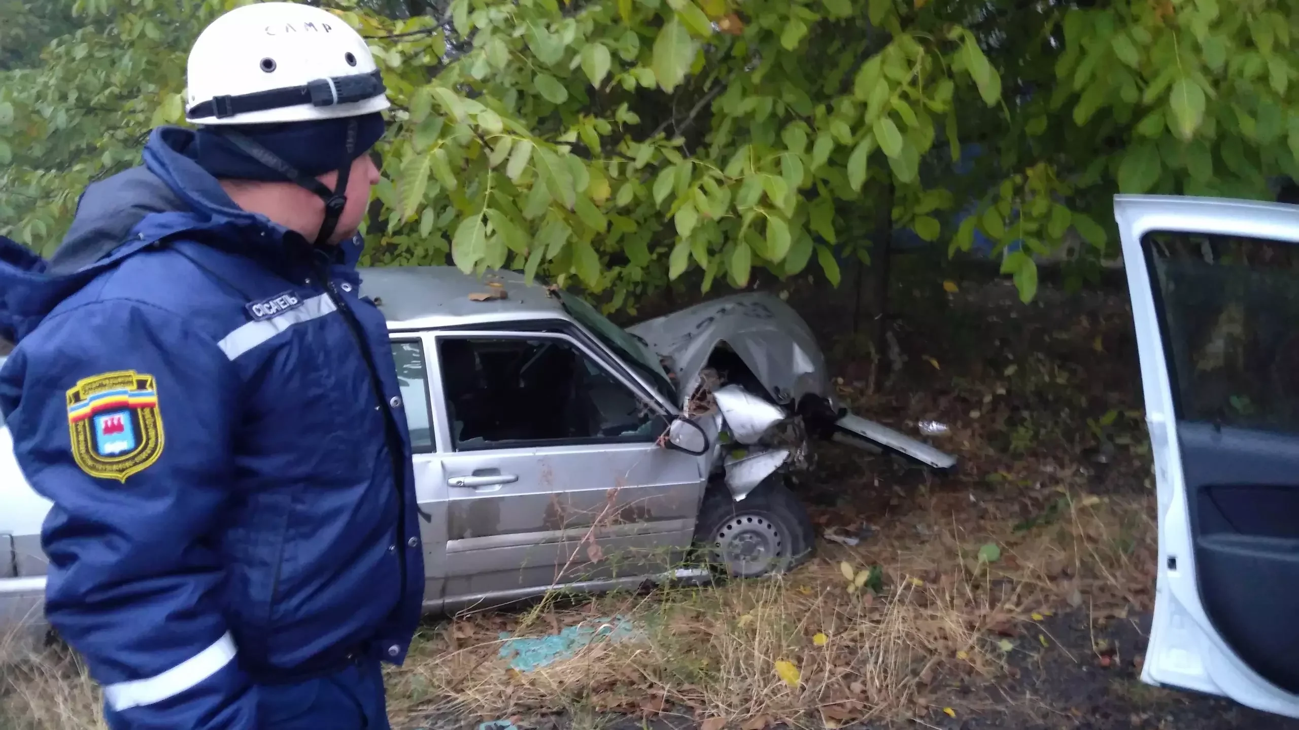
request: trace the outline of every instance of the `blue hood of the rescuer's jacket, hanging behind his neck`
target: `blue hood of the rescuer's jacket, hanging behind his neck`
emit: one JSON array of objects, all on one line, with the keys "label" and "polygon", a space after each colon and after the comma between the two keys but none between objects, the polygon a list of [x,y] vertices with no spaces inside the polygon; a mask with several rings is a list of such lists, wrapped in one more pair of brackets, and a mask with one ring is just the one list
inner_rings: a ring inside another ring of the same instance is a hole
[{"label": "blue hood of the rescuer's jacket, hanging behind his neck", "polygon": [[[144,165],[86,187],[66,236],[48,261],[0,236],[0,339],[18,342],[68,299],[121,258],[187,233],[238,247],[239,229],[287,229],[239,208],[195,162],[195,132],[158,127],[144,145]],[[296,234],[294,234],[296,235]],[[336,261],[355,266],[362,243],[346,242]],[[265,253],[265,251],[262,251]]]}]

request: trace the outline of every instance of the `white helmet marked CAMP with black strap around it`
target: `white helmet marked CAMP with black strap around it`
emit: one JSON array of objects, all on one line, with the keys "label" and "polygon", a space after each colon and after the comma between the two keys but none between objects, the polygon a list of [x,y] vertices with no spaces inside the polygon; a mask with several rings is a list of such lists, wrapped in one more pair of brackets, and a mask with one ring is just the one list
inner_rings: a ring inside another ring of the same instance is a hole
[{"label": "white helmet marked CAMP with black strap around it", "polygon": [[370,49],[333,13],[296,3],[235,8],[190,51],[186,120],[305,122],[388,108]]}]

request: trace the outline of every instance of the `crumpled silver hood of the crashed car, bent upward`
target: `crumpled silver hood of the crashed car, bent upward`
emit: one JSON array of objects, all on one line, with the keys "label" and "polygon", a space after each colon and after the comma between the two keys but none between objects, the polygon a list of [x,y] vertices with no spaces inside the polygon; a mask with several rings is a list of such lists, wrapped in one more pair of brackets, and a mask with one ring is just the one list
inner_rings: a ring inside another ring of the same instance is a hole
[{"label": "crumpled silver hood of the crashed car, bent upward", "polygon": [[672,359],[670,369],[683,399],[695,391],[708,357],[722,342],[778,401],[796,401],[805,394],[833,396],[825,356],[812,330],[788,304],[770,294],[705,301],[627,331]]}]

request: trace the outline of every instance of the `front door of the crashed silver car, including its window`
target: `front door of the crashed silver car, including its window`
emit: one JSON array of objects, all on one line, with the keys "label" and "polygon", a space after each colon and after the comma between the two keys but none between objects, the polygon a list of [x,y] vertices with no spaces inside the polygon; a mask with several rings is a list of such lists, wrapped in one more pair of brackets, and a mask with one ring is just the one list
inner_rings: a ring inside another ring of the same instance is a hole
[{"label": "front door of the crashed silver car, including its window", "polygon": [[670,414],[570,333],[435,333],[447,600],[635,581],[678,564],[707,478]]}]

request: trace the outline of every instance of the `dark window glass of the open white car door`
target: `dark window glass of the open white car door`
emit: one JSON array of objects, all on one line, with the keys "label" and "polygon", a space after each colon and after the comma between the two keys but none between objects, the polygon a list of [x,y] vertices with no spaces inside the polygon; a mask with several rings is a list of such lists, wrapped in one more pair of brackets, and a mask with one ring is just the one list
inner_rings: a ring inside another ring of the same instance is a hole
[{"label": "dark window glass of the open white car door", "polygon": [[1143,244],[1178,418],[1299,433],[1299,245],[1186,233]]}]

